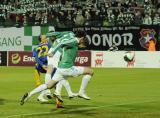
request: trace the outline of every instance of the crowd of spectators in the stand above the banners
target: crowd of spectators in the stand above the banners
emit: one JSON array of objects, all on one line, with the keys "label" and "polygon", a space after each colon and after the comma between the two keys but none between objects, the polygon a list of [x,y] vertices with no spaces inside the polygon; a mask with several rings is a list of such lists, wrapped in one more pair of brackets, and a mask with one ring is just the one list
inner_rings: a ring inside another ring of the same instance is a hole
[{"label": "crowd of spectators in the stand above the banners", "polygon": [[160,25],[160,0],[0,0],[0,26]]}]

